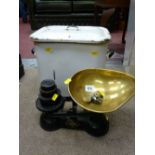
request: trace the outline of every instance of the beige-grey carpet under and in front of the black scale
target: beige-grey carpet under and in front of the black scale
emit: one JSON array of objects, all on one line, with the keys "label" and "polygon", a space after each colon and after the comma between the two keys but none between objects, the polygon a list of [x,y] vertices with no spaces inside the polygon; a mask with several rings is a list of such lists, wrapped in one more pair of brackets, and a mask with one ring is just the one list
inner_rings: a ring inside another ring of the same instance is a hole
[{"label": "beige-grey carpet under and in front of the black scale", "polygon": [[20,155],[134,155],[134,99],[109,114],[110,130],[95,138],[84,131],[40,128],[40,112],[35,108],[39,83],[37,70],[28,69],[20,80]]}]

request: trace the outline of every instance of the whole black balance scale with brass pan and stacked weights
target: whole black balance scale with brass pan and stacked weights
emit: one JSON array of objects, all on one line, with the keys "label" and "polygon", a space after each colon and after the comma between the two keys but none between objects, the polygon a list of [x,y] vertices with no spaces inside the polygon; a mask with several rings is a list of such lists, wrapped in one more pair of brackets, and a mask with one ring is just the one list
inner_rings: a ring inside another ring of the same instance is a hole
[{"label": "whole black balance scale with brass pan and stacked weights", "polygon": [[[134,95],[134,77],[109,69],[85,69],[67,79],[70,96],[64,97],[54,80],[43,80],[36,107],[42,112],[40,126],[85,130],[103,136],[109,130],[107,113],[120,108]],[[72,106],[65,109],[65,106]]]}]

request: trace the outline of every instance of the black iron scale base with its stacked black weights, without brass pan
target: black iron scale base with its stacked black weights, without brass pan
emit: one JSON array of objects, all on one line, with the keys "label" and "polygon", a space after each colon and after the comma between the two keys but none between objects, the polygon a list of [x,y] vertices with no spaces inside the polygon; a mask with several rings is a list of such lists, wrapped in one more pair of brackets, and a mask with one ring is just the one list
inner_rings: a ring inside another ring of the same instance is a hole
[{"label": "black iron scale base with its stacked black weights, without brass pan", "polygon": [[[46,86],[45,83],[47,84]],[[49,90],[51,86],[55,91]],[[45,87],[46,90],[43,90]],[[49,96],[55,93],[58,94],[57,101],[48,100],[47,92],[52,92]],[[49,102],[52,103],[49,104]],[[72,107],[64,111],[64,105],[69,102],[72,102]],[[61,96],[60,90],[56,88],[54,81],[42,81],[36,107],[42,112],[40,126],[46,131],[54,131],[60,128],[78,129],[85,130],[88,134],[99,137],[105,135],[109,130],[109,120],[105,114],[89,112],[84,109],[78,111],[77,104],[71,97]]]}]

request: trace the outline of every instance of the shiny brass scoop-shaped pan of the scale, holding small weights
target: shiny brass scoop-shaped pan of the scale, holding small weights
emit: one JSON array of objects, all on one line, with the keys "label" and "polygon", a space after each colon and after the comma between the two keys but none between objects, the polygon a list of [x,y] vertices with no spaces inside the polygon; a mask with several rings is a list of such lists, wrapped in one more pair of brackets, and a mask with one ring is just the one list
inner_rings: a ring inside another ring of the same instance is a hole
[{"label": "shiny brass scoop-shaped pan of the scale, holding small weights", "polygon": [[109,69],[86,69],[77,72],[69,83],[72,99],[82,108],[96,112],[112,112],[134,95],[134,77]]}]

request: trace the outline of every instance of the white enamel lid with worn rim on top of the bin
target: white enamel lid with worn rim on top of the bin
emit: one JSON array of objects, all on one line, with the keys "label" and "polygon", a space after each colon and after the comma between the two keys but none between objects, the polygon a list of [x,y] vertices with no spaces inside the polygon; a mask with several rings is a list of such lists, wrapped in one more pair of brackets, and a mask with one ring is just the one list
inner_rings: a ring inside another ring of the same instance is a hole
[{"label": "white enamel lid with worn rim on top of the bin", "polygon": [[30,35],[34,42],[102,43],[111,39],[99,26],[46,26]]}]

